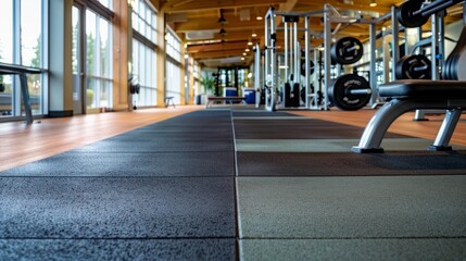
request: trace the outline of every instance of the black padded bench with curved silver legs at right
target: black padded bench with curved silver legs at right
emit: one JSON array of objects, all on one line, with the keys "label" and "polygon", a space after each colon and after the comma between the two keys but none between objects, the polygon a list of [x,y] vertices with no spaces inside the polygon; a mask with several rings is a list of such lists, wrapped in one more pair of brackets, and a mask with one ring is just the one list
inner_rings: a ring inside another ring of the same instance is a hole
[{"label": "black padded bench with curved silver legs at right", "polygon": [[451,150],[450,139],[466,109],[466,80],[404,79],[379,86],[379,96],[392,98],[370,119],[357,153],[383,152],[380,144],[390,125],[402,114],[413,110],[448,110],[437,138],[429,150]]}]

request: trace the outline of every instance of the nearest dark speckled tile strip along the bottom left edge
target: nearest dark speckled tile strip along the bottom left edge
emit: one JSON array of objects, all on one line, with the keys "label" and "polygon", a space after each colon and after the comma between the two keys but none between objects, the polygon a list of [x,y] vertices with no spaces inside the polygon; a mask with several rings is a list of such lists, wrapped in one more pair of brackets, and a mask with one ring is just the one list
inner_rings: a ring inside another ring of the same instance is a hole
[{"label": "nearest dark speckled tile strip along the bottom left edge", "polygon": [[0,260],[235,260],[235,239],[10,239]]}]

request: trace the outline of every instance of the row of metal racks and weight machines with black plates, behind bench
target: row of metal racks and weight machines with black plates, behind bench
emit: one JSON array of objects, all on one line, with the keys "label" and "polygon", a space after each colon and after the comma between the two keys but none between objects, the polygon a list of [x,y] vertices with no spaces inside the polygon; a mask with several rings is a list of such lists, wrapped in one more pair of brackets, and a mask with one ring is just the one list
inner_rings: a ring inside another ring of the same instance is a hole
[{"label": "row of metal racks and weight machines with black plates, behind bench", "polygon": [[[299,83],[299,72],[300,70],[302,76],[304,79],[304,87],[300,91],[300,97],[304,97],[304,103],[305,108],[311,109],[311,102],[310,97],[316,99],[317,98],[317,88],[314,88],[316,85],[310,84],[310,76],[313,75],[313,73],[317,70],[314,70],[313,60],[310,59],[311,51],[308,49],[311,42],[310,42],[310,35],[316,36],[316,33],[313,33],[308,29],[308,23],[311,16],[323,16],[324,21],[324,34],[318,35],[319,37],[323,36],[324,38],[324,67],[323,67],[323,79],[322,83],[324,84],[323,88],[323,96],[324,96],[324,102],[320,104],[323,110],[328,110],[329,104],[335,104],[338,108],[342,110],[358,110],[366,105],[368,102],[370,102],[370,105],[375,108],[376,103],[378,102],[378,96],[377,91],[377,74],[376,74],[376,25],[378,23],[385,22],[387,20],[391,20],[391,34],[393,36],[392,42],[394,44],[394,47],[392,48],[392,60],[394,65],[392,66],[392,79],[438,79],[439,76],[434,71],[438,71],[439,64],[442,64],[442,60],[439,58],[443,57],[443,48],[438,48],[438,42],[442,42],[443,39],[439,39],[437,36],[432,36],[431,41],[432,47],[432,53],[431,53],[431,60],[430,61],[426,55],[423,53],[415,53],[412,51],[408,55],[405,55],[400,59],[400,50],[398,48],[399,42],[399,33],[400,30],[405,30],[405,28],[401,27],[405,25],[416,24],[418,25],[419,22],[413,22],[410,24],[410,17],[412,16],[412,20],[417,20],[418,11],[410,11],[408,7],[411,7],[413,3],[412,1],[421,2],[420,0],[410,0],[408,3],[402,4],[400,8],[392,7],[392,11],[382,15],[379,18],[364,18],[364,17],[347,17],[341,16],[337,10],[335,10],[330,4],[325,4],[324,10],[322,11],[314,11],[314,12],[275,12],[274,9],[270,9],[267,12],[266,20],[265,20],[265,30],[266,30],[266,39],[265,39],[265,61],[260,63],[256,62],[256,66],[259,64],[264,64],[264,83],[259,83],[256,86],[265,86],[264,92],[265,92],[265,104],[266,110],[274,111],[276,110],[275,105],[277,104],[277,92],[278,92],[278,86],[279,80],[277,79],[277,75],[279,75],[278,72],[278,63],[277,63],[277,48],[276,48],[276,41],[277,41],[277,30],[279,28],[276,27],[275,23],[276,16],[282,16],[284,17],[284,24],[285,24],[285,37],[286,37],[286,47],[285,47],[285,75],[288,79],[288,82],[285,84],[285,107],[299,107],[300,101],[298,96],[300,87]],[[438,3],[438,2],[448,2],[445,3]],[[423,11],[424,13],[436,15],[436,18],[432,17],[432,24],[436,23],[436,27],[439,27],[440,18],[442,18],[438,13],[434,13],[438,10],[441,10],[442,8],[450,7],[452,4],[455,4],[459,1],[436,1],[434,4],[428,4],[425,5],[428,11]],[[419,5],[419,4],[417,4]],[[416,7],[417,7],[416,5]],[[406,14],[412,12],[413,14]],[[425,14],[426,15],[426,14]],[[297,40],[297,30],[298,30],[298,22],[299,18],[304,18],[304,42],[305,48],[304,51],[301,53],[299,51],[299,40]],[[392,18],[398,17],[398,18]],[[423,16],[424,17],[424,16]],[[428,17],[427,17],[428,20]],[[426,20],[426,21],[427,21]],[[354,22],[356,21],[356,22]],[[330,75],[330,69],[333,64],[338,63],[341,65],[348,65],[352,64],[358,61],[361,57],[363,55],[363,45],[353,37],[343,37],[339,39],[336,44],[331,44],[331,38],[333,38],[335,35],[338,34],[339,26],[336,27],[336,29],[331,29],[331,24],[338,23],[341,24],[353,24],[353,23],[361,23],[361,24],[368,24],[369,25],[369,79],[368,82],[361,76],[357,76],[355,74],[347,74],[341,75],[336,79],[332,79],[332,76]],[[287,24],[290,24],[287,26]],[[433,27],[433,26],[432,26]],[[288,30],[288,28],[290,28]],[[289,32],[289,34],[287,33]],[[434,35],[438,35],[438,29],[433,28],[432,33]],[[293,42],[293,45],[290,45],[291,48],[288,47],[288,42]],[[436,46],[434,46],[436,45]],[[256,47],[259,50],[259,47]],[[290,49],[291,54],[288,54],[288,50]],[[437,50],[440,49],[439,52]],[[300,54],[301,53],[301,54]],[[260,51],[256,51],[256,54],[259,58],[256,60],[260,60]],[[361,57],[360,57],[361,55]],[[302,59],[304,57],[304,59]],[[316,52],[314,51],[314,57],[316,57]],[[299,62],[301,61],[301,62]],[[316,61],[316,59],[314,59]],[[299,65],[298,65],[299,64]],[[444,63],[443,67],[451,67],[451,61]],[[298,69],[299,66],[299,69]],[[291,73],[288,73],[288,69]],[[308,70],[306,70],[308,69]],[[257,67],[255,72],[261,72]],[[320,72],[320,70],[318,71]],[[445,75],[451,74],[451,72],[456,72],[454,70],[446,70]],[[436,75],[437,74],[437,75]],[[314,75],[314,80],[316,79],[316,76]],[[312,92],[312,94],[310,94]],[[257,99],[259,100],[259,99]],[[316,104],[317,102],[313,103]],[[313,108],[315,109],[315,108]]]}]

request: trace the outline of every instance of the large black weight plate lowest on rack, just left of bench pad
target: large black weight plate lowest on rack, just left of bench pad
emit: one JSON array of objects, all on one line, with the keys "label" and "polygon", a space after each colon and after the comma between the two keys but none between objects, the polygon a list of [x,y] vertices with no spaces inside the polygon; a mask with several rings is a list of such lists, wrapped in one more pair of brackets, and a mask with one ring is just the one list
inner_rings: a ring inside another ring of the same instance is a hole
[{"label": "large black weight plate lowest on rack, just left of bench pad", "polygon": [[336,78],[328,89],[330,101],[344,111],[356,111],[370,100],[369,94],[352,95],[351,90],[370,89],[369,83],[358,75],[344,74]]}]

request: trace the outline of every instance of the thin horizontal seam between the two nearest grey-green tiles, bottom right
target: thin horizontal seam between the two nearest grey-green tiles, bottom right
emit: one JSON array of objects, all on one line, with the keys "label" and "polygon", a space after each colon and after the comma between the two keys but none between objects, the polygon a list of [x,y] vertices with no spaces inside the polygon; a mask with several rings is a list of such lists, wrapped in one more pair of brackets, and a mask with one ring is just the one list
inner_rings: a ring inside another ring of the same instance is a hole
[{"label": "thin horizontal seam between the two nearest grey-green tiles, bottom right", "polygon": [[402,236],[402,237],[241,237],[239,240],[424,240],[466,239],[465,236]]}]

